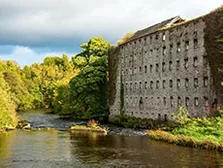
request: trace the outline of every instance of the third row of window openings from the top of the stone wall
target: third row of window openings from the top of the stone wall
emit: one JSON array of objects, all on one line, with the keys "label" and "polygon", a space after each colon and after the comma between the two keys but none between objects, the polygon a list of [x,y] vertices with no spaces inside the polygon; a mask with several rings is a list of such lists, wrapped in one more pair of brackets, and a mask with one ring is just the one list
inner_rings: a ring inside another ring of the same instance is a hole
[{"label": "third row of window openings from the top of the stone wall", "polygon": [[[187,69],[188,67],[189,67],[189,60],[188,60],[188,58],[185,58],[184,59],[184,68],[185,69]],[[206,56],[204,56],[203,57],[203,64],[204,64],[204,66],[206,66],[207,65],[207,57]],[[193,58],[193,66],[194,67],[197,67],[198,66],[198,58],[197,57],[194,57]],[[136,67],[135,67],[135,71],[136,71]],[[172,61],[169,61],[169,70],[170,71],[172,71],[172,69],[173,69],[173,62]],[[180,69],[180,60],[177,60],[176,61],[176,70],[179,70]],[[162,72],[164,72],[166,70],[166,63],[165,62],[163,62],[162,63]],[[147,65],[145,65],[144,66],[144,72],[145,73],[147,73]],[[128,72],[128,69],[126,69],[126,72]],[[139,72],[142,72],[142,67],[140,66],[139,67]],[[151,64],[150,65],[150,73],[152,73],[153,72],[153,65]],[[156,72],[159,72],[159,64],[156,64]]]}]

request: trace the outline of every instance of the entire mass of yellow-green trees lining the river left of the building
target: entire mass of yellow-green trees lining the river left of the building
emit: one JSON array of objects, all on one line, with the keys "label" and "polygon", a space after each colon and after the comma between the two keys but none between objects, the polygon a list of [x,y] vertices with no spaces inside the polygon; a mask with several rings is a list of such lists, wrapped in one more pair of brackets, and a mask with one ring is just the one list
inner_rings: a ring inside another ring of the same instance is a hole
[{"label": "entire mass of yellow-green trees lining the river left of the building", "polygon": [[104,117],[110,44],[94,37],[81,47],[71,60],[63,54],[23,68],[0,61],[0,128],[15,126],[15,111],[30,108],[49,108],[79,119]]}]

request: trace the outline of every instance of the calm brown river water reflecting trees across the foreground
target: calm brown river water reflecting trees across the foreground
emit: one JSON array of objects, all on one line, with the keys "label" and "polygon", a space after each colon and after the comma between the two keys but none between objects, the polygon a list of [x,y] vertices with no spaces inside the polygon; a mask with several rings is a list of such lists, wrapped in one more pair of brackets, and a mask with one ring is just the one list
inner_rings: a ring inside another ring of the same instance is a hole
[{"label": "calm brown river water reflecting trees across the foreground", "polygon": [[0,168],[221,167],[223,154],[152,141],[147,136],[65,131],[71,121],[31,111],[32,131],[0,135]]}]

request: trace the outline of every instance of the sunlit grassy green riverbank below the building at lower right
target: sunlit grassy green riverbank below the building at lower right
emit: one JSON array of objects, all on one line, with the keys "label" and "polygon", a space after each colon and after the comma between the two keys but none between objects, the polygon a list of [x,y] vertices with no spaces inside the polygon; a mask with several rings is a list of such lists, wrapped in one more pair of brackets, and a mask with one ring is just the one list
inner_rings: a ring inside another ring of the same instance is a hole
[{"label": "sunlit grassy green riverbank below the building at lower right", "polygon": [[148,132],[150,138],[168,143],[223,151],[223,118],[187,119]]}]

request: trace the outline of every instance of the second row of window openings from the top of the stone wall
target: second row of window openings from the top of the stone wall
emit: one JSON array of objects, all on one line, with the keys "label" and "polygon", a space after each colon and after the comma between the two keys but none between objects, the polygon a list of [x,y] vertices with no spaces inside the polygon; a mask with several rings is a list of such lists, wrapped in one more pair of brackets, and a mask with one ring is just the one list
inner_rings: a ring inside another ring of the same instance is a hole
[{"label": "second row of window openings from the top of the stone wall", "polygon": [[[194,39],[194,49],[198,48],[198,39]],[[157,52],[159,50],[159,48],[156,49]],[[186,41],[185,42],[185,51],[188,51],[189,50],[189,41]],[[181,52],[181,43],[177,43],[177,52]],[[145,51],[145,53],[147,53],[147,51]],[[153,50],[151,49],[150,50],[150,53],[151,55],[153,54]],[[166,46],[163,46],[163,50],[162,50],[162,54],[163,55],[166,55],[167,53],[167,48]],[[169,53],[172,54],[173,53],[173,44],[170,44],[170,50],[169,50]],[[139,53],[141,54],[141,52]],[[136,53],[135,53],[136,55]],[[132,55],[130,55],[132,57]],[[122,57],[123,58],[123,57]]]}]

